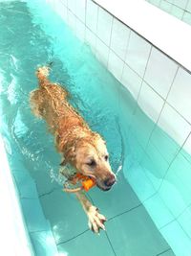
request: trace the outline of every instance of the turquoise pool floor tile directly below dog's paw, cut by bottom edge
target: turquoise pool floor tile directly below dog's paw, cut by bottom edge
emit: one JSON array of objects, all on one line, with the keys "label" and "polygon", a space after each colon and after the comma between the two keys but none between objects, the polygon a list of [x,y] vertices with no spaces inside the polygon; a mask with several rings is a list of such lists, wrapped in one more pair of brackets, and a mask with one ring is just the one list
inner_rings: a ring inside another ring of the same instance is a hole
[{"label": "turquoise pool floor tile directly below dog's paw, cut by bottom edge", "polygon": [[115,256],[111,245],[109,244],[104,231],[100,235],[94,234],[92,231],[76,237],[74,240],[65,244],[57,245],[59,255],[61,256]]}]

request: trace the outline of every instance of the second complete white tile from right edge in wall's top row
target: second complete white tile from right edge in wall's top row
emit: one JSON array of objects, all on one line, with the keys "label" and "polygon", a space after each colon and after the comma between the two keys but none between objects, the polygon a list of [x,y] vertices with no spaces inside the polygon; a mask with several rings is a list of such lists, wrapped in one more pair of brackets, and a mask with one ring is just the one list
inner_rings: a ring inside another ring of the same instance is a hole
[{"label": "second complete white tile from right edge in wall's top row", "polygon": [[126,63],[143,77],[151,45],[136,33],[131,32],[127,48]]}]

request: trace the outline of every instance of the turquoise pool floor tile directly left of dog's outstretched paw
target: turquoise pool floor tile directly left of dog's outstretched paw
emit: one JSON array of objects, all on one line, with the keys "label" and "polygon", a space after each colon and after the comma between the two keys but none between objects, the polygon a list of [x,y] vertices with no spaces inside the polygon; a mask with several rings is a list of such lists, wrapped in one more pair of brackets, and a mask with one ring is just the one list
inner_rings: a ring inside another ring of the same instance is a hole
[{"label": "turquoise pool floor tile directly left of dog's outstretched paw", "polygon": [[74,195],[60,190],[40,198],[56,243],[67,241],[88,228],[88,219]]}]

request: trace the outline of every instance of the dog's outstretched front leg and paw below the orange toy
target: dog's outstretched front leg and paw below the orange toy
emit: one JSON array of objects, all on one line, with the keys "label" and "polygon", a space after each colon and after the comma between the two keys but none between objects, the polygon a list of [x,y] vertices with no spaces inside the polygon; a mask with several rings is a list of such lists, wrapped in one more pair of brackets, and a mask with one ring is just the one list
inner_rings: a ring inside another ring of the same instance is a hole
[{"label": "dog's outstretched front leg and paw below the orange toy", "polygon": [[86,198],[83,192],[80,191],[76,192],[75,194],[88,216],[89,227],[96,233],[99,232],[100,228],[105,230],[104,221],[106,221],[106,219],[102,214],[99,214],[96,206],[92,205],[92,203],[88,200],[88,198]]}]

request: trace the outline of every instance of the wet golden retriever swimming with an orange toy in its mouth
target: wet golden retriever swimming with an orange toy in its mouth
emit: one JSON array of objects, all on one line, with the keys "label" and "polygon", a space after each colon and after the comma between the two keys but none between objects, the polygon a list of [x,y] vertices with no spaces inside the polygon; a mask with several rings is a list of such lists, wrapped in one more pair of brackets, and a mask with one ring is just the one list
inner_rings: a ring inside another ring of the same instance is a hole
[{"label": "wet golden retriever swimming with an orange toy in its mouth", "polygon": [[[54,136],[55,147],[61,153],[61,165],[69,164],[76,173],[93,176],[96,186],[102,191],[108,191],[115,184],[116,175],[109,163],[106,143],[69,104],[68,91],[60,84],[49,81],[50,69],[50,66],[42,66],[36,71],[39,88],[31,92],[32,112],[47,122]],[[62,175],[70,177],[64,171]],[[72,171],[71,175],[74,175]],[[106,218],[98,212],[84,192],[75,194],[87,214],[90,228],[96,233],[100,229],[105,230]]]}]

